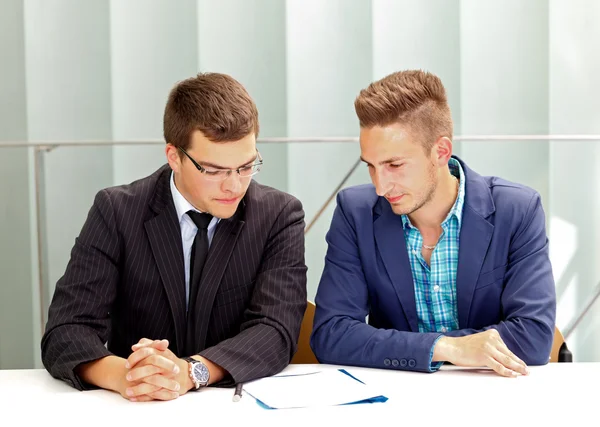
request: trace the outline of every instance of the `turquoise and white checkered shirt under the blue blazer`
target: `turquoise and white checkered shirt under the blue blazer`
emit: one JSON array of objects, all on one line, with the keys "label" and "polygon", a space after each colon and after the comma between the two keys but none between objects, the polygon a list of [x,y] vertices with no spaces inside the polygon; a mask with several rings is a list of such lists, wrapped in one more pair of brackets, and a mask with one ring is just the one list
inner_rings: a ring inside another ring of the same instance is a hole
[{"label": "turquoise and white checkered shirt under the blue blazer", "polygon": [[[427,265],[421,254],[423,245],[421,232],[410,223],[407,215],[402,215],[406,249],[415,286],[419,332],[444,333],[458,329],[456,271],[465,201],[465,179],[460,163],[456,159],[451,158],[448,166],[450,173],[459,179],[458,197],[442,222],[442,234],[431,253],[430,265]],[[429,360],[432,357],[433,347]],[[440,366],[441,363],[434,365],[430,363],[432,370]]]}]

